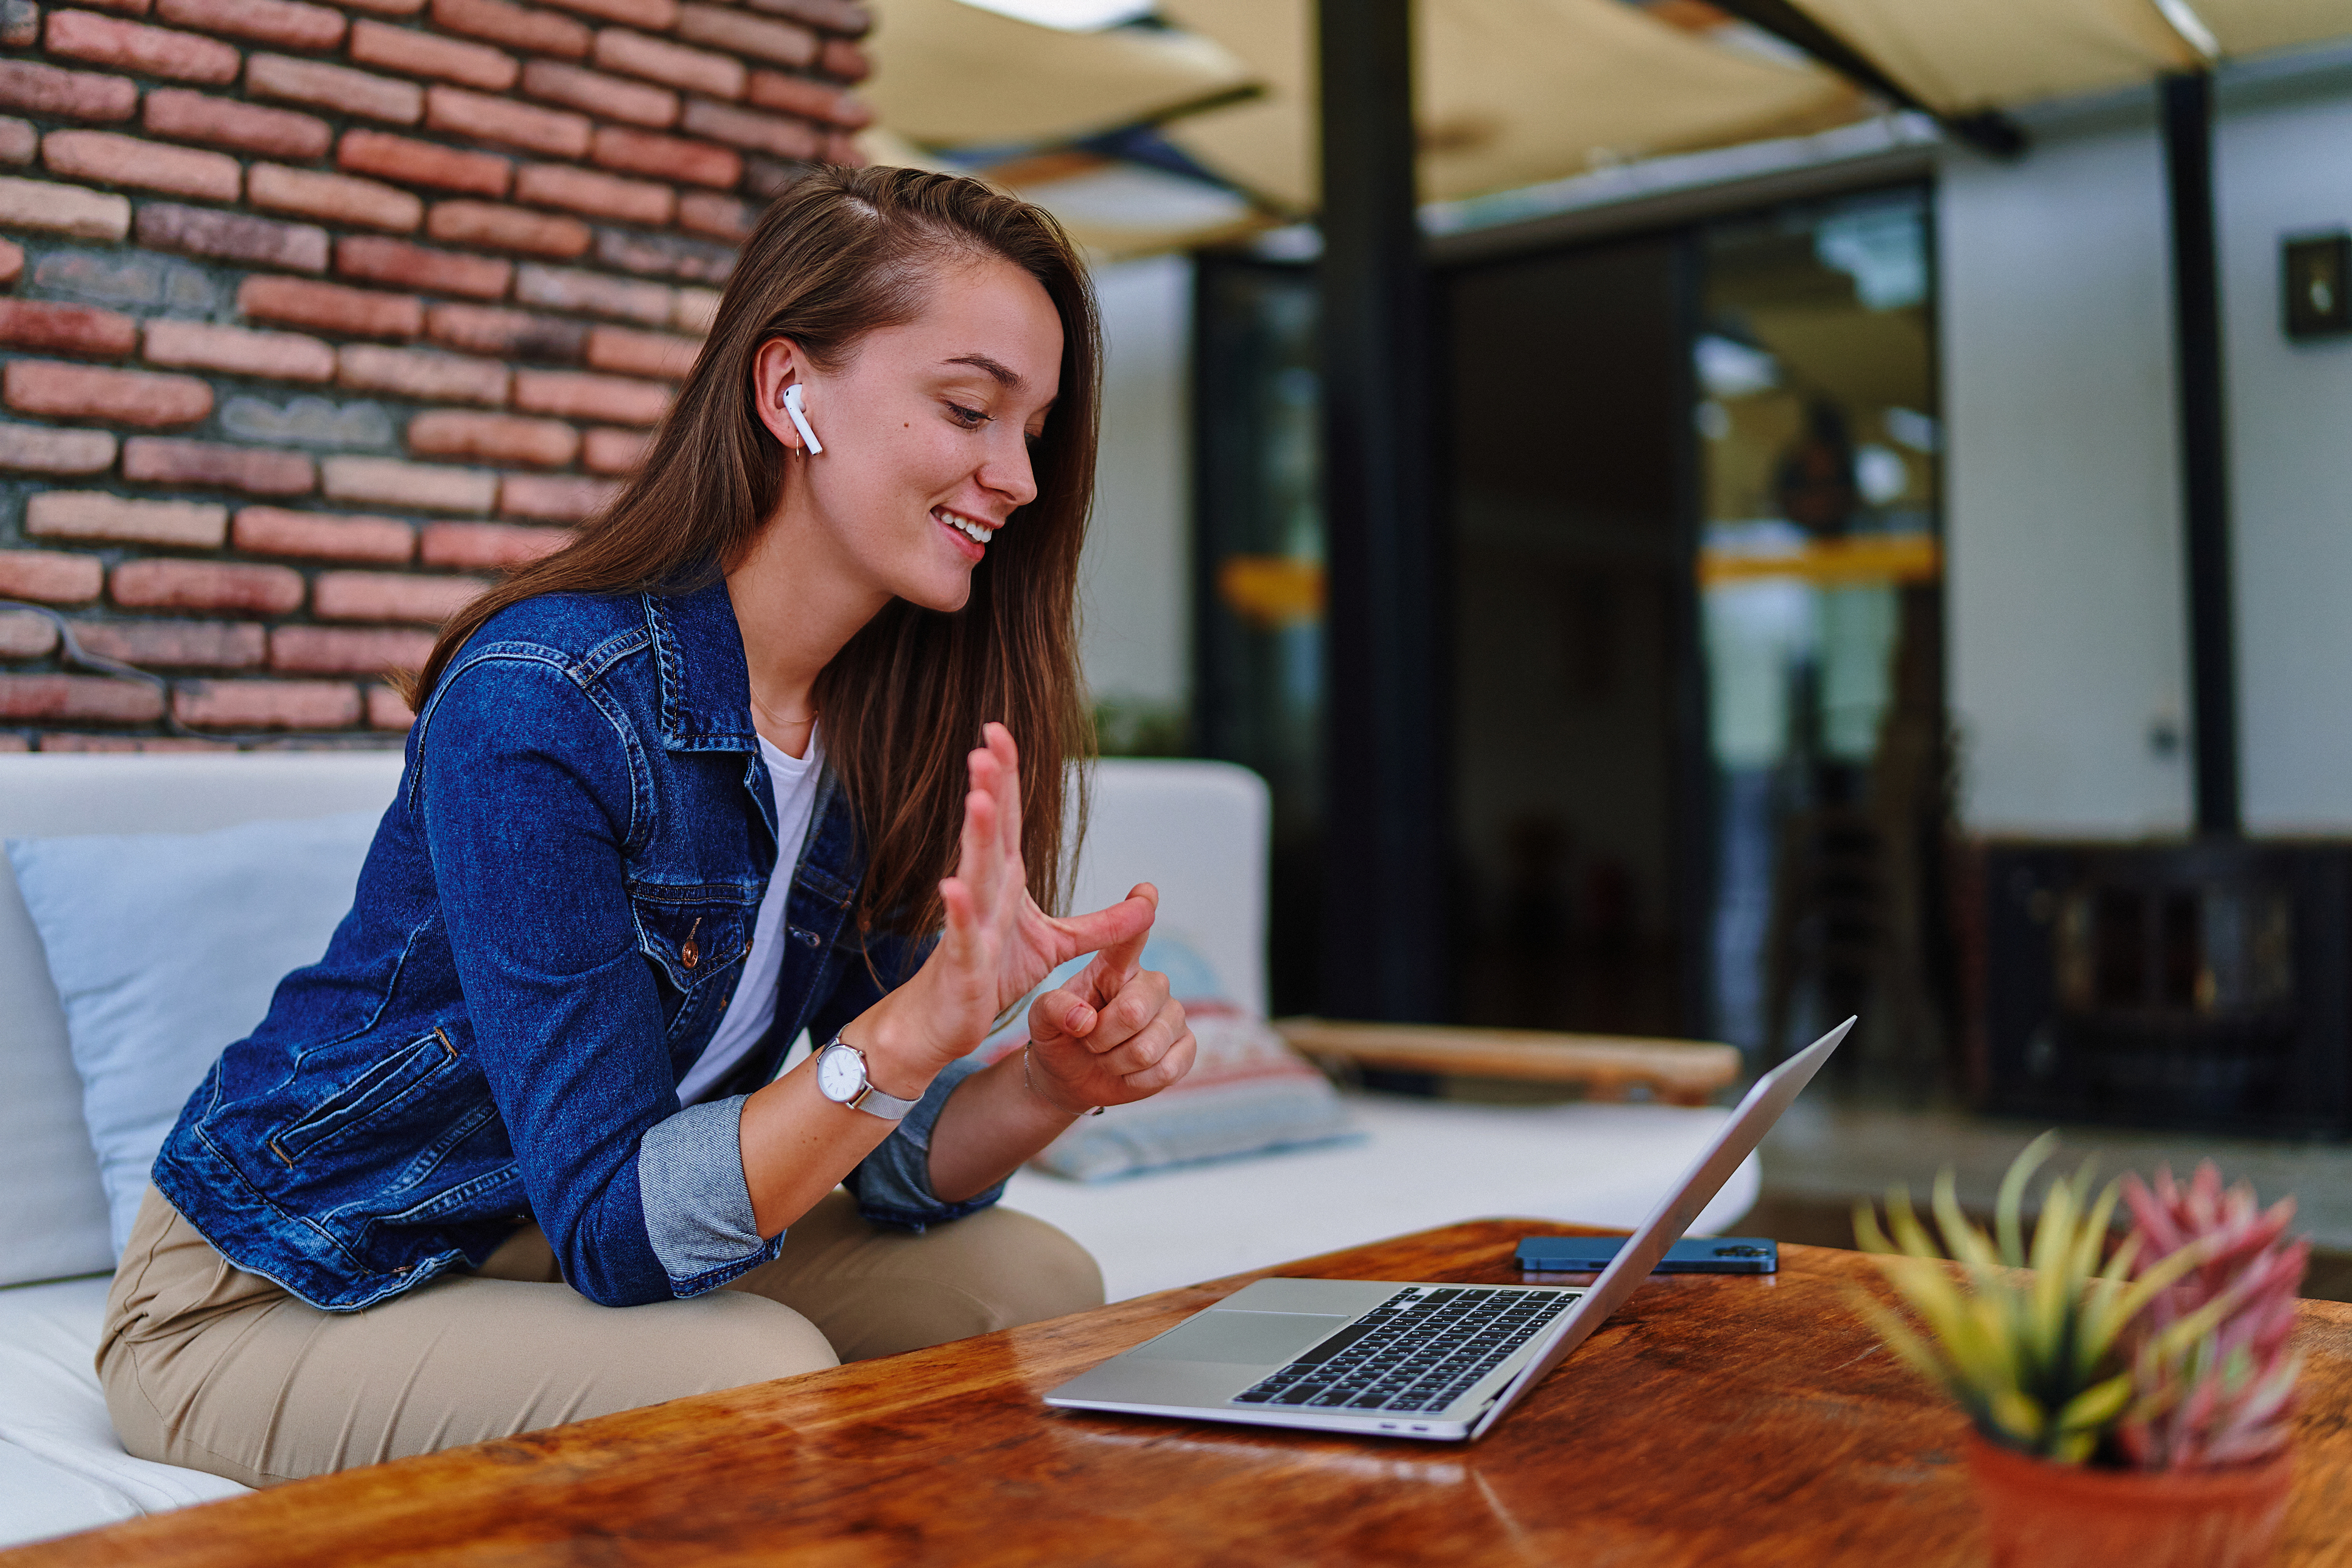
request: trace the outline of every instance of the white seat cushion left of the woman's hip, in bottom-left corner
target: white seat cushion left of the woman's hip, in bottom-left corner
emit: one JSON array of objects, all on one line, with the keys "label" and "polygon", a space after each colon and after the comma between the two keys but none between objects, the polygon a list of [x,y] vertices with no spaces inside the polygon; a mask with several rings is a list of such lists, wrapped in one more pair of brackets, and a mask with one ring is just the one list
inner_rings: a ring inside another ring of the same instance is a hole
[{"label": "white seat cushion left of the woman's hip, in bottom-left corner", "polygon": [[247,1490],[122,1453],[92,1366],[103,1316],[103,1279],[0,1291],[0,1547]]}]

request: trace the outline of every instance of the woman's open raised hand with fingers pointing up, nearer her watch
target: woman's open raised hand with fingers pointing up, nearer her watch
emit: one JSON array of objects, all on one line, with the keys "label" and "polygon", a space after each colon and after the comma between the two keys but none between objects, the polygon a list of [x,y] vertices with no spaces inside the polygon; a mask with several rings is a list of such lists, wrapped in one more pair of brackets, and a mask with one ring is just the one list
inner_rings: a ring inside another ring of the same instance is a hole
[{"label": "woman's open raised hand with fingers pointing up, nearer her watch", "polygon": [[[955,875],[938,884],[948,929],[903,987],[913,992],[906,997],[913,1004],[906,1023],[929,1053],[931,1072],[981,1044],[997,1016],[1056,964],[1122,947],[1129,952],[1124,969],[1136,973],[1131,954],[1141,952],[1160,903],[1145,884],[1091,914],[1054,917],[1040,910],[1021,858],[1021,755],[1002,724],[988,724],[983,741],[967,759],[971,792],[964,795]],[[1096,969],[1101,964],[1087,973]]]}]

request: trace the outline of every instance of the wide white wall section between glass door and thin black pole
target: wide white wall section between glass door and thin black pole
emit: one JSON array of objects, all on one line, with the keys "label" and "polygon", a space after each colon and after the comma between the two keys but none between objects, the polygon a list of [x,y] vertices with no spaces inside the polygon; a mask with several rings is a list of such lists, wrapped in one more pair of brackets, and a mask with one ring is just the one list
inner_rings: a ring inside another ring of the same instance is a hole
[{"label": "wide white wall section between glass door and thin black pole", "polygon": [[2152,122],[1940,174],[1947,670],[1971,832],[2190,820],[2171,268]]}]

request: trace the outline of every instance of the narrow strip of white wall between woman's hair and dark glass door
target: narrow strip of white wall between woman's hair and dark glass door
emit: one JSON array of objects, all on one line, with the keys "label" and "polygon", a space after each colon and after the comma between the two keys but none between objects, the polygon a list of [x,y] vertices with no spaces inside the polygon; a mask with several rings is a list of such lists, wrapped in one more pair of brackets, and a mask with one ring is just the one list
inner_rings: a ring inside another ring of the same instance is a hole
[{"label": "narrow strip of white wall between woman's hair and dark glass door", "polygon": [[1096,698],[1183,708],[1192,691],[1192,263],[1094,273],[1103,306],[1103,444],[1080,578]]}]

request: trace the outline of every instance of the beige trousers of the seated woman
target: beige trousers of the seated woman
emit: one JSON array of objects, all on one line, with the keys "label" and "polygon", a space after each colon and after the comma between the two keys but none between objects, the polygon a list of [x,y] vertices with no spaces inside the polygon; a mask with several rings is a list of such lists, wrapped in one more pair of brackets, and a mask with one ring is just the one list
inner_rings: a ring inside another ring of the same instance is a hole
[{"label": "beige trousers of the seated woman", "polygon": [[278,1486],[1101,1302],[1094,1258],[1044,1220],[983,1208],[917,1237],[835,1190],[783,1255],[691,1300],[600,1307],[562,1284],[532,1225],[473,1274],[320,1312],[148,1190],[99,1380],[134,1455]]}]

